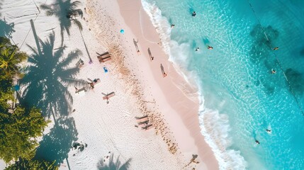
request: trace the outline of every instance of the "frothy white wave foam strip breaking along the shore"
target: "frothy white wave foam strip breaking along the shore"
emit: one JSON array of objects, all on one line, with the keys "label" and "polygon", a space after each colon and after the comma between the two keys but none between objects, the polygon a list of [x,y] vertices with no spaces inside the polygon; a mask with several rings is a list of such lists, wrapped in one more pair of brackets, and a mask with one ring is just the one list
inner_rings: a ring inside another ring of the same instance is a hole
[{"label": "frothy white wave foam strip breaking along the shore", "polygon": [[[174,63],[174,67],[184,76],[186,81],[189,81],[189,77],[197,78],[195,73],[188,72],[185,69],[188,65],[187,56],[189,54],[187,50],[184,49],[188,49],[188,45],[186,43],[179,45],[176,41],[170,39],[171,26],[169,21],[162,16],[162,11],[155,4],[150,4],[142,0],[142,6],[150,16],[152,24],[159,33],[163,49],[167,55],[169,55],[169,61]],[[198,84],[198,81],[196,82]],[[218,113],[218,111],[205,108],[203,96],[200,96],[199,123],[201,133],[205,137],[208,145],[213,149],[220,169],[246,169],[247,163],[244,157],[240,155],[240,151],[227,149],[232,144],[232,139],[228,135],[230,131],[228,116],[223,113]]]}]

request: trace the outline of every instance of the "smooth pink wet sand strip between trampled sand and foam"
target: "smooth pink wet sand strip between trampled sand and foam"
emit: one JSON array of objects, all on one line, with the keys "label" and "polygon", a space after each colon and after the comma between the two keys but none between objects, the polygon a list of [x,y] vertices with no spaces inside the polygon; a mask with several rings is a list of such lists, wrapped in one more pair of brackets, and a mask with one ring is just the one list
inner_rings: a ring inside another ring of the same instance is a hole
[{"label": "smooth pink wet sand strip between trampled sand and foam", "polygon": [[[140,47],[142,47],[143,49],[147,49],[147,47],[151,49],[153,48],[154,51],[157,51],[154,52],[157,54],[157,58],[160,58],[159,60],[155,59],[154,61],[152,61],[152,63],[148,64],[150,70],[152,71],[153,77],[153,79],[150,79],[150,81],[156,82],[156,84],[154,85],[159,86],[159,89],[162,91],[162,93],[159,93],[157,90],[152,90],[152,93],[154,96],[157,96],[157,101],[159,100],[159,98],[164,98],[164,100],[161,100],[159,104],[161,111],[171,110],[178,114],[177,116],[174,115],[173,117],[172,113],[170,114],[162,112],[164,114],[165,119],[171,126],[171,131],[174,133],[174,137],[176,138],[176,142],[179,144],[179,148],[182,152],[188,154],[186,155],[186,157],[190,157],[191,154],[196,154],[190,152],[198,152],[197,154],[201,158],[201,161],[206,164],[205,166],[207,169],[218,169],[218,162],[215,159],[211,148],[204,140],[204,137],[201,134],[201,128],[198,124],[199,101],[197,90],[189,86],[184,77],[181,77],[181,75],[176,72],[173,63],[169,62],[169,57],[167,56],[167,54],[164,54],[164,50],[162,49],[162,47],[159,47],[159,45],[155,45],[150,40],[146,39],[149,35],[143,35],[145,31],[142,30],[142,25],[138,26],[138,23],[134,22],[136,21],[136,18],[139,18],[140,22],[145,20],[144,23],[146,32],[150,33],[150,37],[154,35],[159,38],[157,31],[155,30],[154,26],[152,26],[150,17],[147,16],[147,13],[142,8],[142,4],[138,2],[131,3],[123,0],[118,0],[118,4],[120,6],[121,16],[123,16],[125,23],[130,27],[130,30],[133,32],[133,34],[138,39],[140,39]],[[124,8],[127,8],[128,10],[125,10]],[[130,8],[132,8],[132,10],[130,10]],[[136,12],[132,12],[133,10],[138,10],[138,8],[139,11],[144,11],[145,13],[139,12],[137,16]],[[128,16],[132,16],[132,18],[128,18]],[[147,56],[145,56],[145,60],[146,63],[149,63],[149,61],[147,61]],[[164,64],[164,67],[168,69],[167,77],[162,78],[161,76],[159,76],[159,74],[157,74],[157,72],[155,72],[157,71],[157,64],[155,64],[155,62]],[[148,70],[145,69],[145,72],[148,72]],[[170,81],[168,81],[169,78]],[[179,89],[179,85],[182,86],[181,88],[184,89]],[[193,94],[195,95],[193,96]],[[192,100],[189,98],[189,95],[191,95]],[[167,104],[169,104],[169,107],[167,106]],[[176,119],[178,119],[177,122]],[[184,127],[180,126],[183,124]],[[188,139],[184,140],[184,138]],[[192,147],[189,147],[189,144]]]}]

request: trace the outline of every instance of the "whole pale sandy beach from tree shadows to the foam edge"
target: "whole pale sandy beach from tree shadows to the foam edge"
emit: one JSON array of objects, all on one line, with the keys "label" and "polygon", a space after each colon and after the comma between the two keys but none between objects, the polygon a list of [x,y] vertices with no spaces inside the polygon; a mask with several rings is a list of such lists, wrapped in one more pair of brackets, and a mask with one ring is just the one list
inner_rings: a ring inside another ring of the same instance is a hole
[{"label": "whole pale sandy beach from tree shadows to the foam edge", "polygon": [[[55,48],[60,47],[57,17],[46,16],[40,8],[52,3],[7,0],[1,6],[1,18],[14,23],[11,40],[29,55],[28,45],[36,47],[30,20],[41,40],[54,32]],[[75,79],[100,82],[94,89],[89,84],[75,86],[85,87],[79,94],[74,86],[67,86],[72,94],[67,118],[73,119],[77,131],[74,142],[87,147],[81,152],[71,145],[60,169],[98,169],[98,162],[107,163],[111,154],[121,164],[130,160],[130,169],[218,169],[198,125],[197,90],[168,61],[140,0],[87,0],[78,8],[84,12],[84,18],[77,18],[83,30],[72,24],[70,36],[64,33],[64,55],[81,50],[84,65]],[[120,33],[122,29],[124,33]],[[104,52],[110,53],[111,60],[100,63],[97,56]],[[76,67],[77,61],[70,62],[69,67]],[[107,103],[104,94],[111,92],[115,95]],[[135,118],[144,115],[144,120]],[[146,120],[147,124],[138,125]],[[142,129],[145,125],[152,126]],[[193,154],[198,157],[191,162]]]}]

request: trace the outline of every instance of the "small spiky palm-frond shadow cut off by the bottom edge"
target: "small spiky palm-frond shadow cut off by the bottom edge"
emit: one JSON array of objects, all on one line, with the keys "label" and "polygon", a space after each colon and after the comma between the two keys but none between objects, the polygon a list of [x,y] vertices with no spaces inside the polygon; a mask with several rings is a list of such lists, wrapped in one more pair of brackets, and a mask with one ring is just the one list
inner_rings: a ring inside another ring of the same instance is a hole
[{"label": "small spiky palm-frond shadow cut off by the bottom edge", "polygon": [[113,160],[113,155],[114,154],[111,154],[109,156],[108,163],[105,162],[105,159],[101,159],[97,163],[97,169],[98,170],[128,170],[128,169],[130,169],[130,162],[132,161],[131,158],[128,159],[127,162],[125,162],[124,164],[121,164],[121,162],[119,160],[119,156],[115,161],[115,160]]}]

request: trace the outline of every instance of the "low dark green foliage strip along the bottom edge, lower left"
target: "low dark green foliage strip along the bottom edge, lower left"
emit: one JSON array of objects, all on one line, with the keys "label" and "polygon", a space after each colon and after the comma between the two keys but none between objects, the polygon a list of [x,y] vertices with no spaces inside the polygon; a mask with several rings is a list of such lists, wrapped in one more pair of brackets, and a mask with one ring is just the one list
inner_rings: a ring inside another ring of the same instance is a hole
[{"label": "low dark green foliage strip along the bottom edge, lower left", "polygon": [[45,160],[27,160],[27,159],[19,159],[15,164],[11,164],[6,167],[4,170],[57,170],[58,166],[55,166],[54,162],[47,162]]}]

